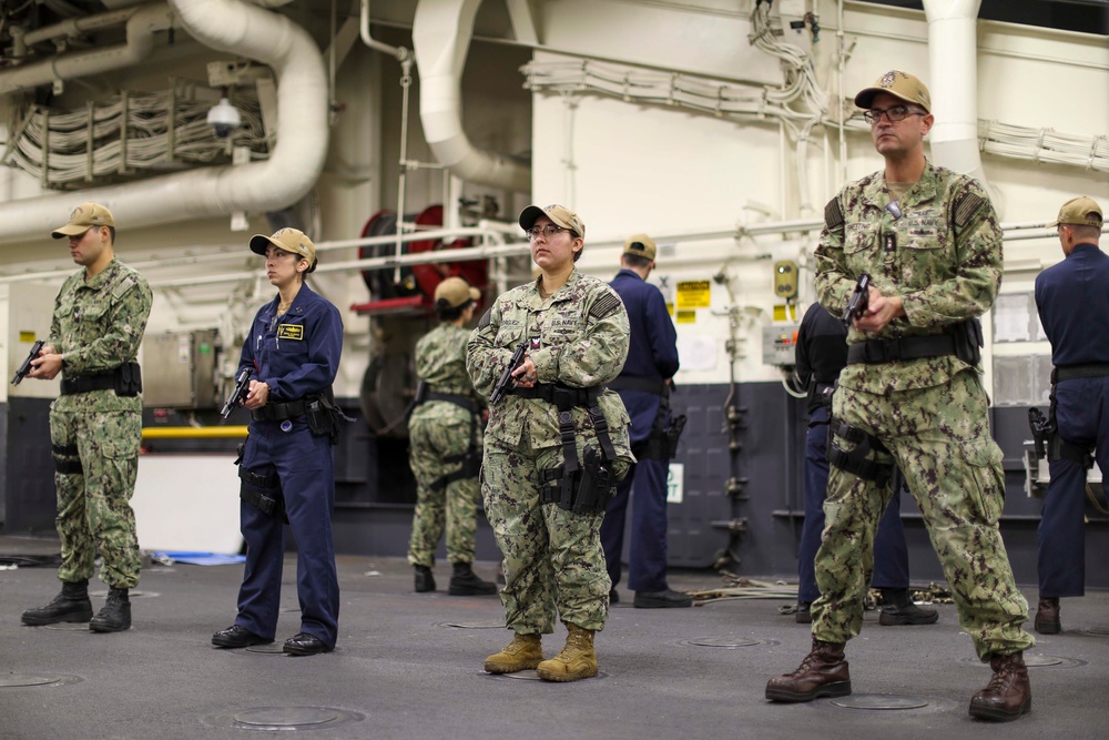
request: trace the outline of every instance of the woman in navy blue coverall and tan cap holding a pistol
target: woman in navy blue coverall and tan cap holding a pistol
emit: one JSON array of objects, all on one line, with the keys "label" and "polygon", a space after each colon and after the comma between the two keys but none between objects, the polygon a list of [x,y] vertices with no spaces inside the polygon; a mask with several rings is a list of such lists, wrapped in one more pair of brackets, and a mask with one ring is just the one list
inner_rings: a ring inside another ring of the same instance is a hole
[{"label": "woman in navy blue coverall and tan cap holding a pistol", "polygon": [[[301,630],[285,641],[291,655],[335,647],[339,588],[332,539],[335,429],[332,383],[343,348],[339,312],[304,284],[315,246],[295,229],[257,235],[251,250],[266,256],[278,295],[254,317],[240,372],[252,372],[243,405],[252,412],[243,452],[241,517],[246,568],[235,624],[212,642],[242,648],[273,642],[281,602],[287,517],[296,539]],[[328,424],[330,426],[328,426]]]}]

